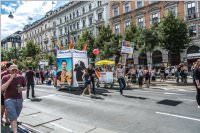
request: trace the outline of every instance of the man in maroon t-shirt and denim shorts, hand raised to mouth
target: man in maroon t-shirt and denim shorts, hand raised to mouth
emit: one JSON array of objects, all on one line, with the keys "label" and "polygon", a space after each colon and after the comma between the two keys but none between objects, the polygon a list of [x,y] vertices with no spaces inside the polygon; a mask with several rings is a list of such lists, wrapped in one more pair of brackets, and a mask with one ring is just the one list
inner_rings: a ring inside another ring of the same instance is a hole
[{"label": "man in maroon t-shirt and denim shorts, hand raised to mouth", "polygon": [[18,73],[17,65],[9,67],[10,74],[2,79],[1,91],[5,92],[5,108],[13,133],[17,133],[17,119],[23,107],[22,91],[26,90],[26,80]]}]

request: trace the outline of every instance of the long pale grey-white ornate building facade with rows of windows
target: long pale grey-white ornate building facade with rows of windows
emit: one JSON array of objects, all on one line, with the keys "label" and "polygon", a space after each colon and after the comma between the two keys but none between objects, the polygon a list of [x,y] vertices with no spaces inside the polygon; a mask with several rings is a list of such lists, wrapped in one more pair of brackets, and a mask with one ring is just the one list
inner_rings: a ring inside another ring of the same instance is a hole
[{"label": "long pale grey-white ornate building facade with rows of windows", "polygon": [[24,27],[22,45],[27,40],[34,40],[43,51],[55,48],[56,40],[63,47],[69,44],[70,38],[77,43],[85,30],[98,35],[99,27],[109,23],[108,1],[72,1],[46,13],[45,17]]}]

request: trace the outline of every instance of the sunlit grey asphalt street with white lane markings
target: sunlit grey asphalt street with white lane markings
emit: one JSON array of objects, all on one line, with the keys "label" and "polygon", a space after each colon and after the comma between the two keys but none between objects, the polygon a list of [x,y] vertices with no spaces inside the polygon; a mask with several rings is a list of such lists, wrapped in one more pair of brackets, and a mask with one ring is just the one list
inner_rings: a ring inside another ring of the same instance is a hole
[{"label": "sunlit grey asphalt street with white lane markings", "polygon": [[38,85],[37,99],[25,99],[20,120],[44,133],[199,133],[194,86],[160,84],[124,96],[117,89],[97,92],[80,96]]}]

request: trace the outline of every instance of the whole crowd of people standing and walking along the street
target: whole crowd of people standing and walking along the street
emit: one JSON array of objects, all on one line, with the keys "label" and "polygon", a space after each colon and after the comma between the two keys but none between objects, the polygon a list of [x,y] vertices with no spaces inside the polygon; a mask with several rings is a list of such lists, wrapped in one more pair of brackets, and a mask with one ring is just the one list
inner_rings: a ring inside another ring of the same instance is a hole
[{"label": "whole crowd of people standing and walking along the street", "polygon": [[[130,87],[130,84],[137,83],[139,88],[144,84],[149,88],[150,82],[155,81],[156,77],[160,78],[160,82],[164,82],[170,76],[176,78],[176,82],[187,83],[189,75],[188,67],[184,64],[179,64],[176,67],[165,67],[161,65],[159,69],[148,67],[129,67],[126,68],[122,64],[114,66],[97,67],[92,64],[85,68],[82,79],[84,81],[84,89],[81,95],[85,95],[88,91],[89,95],[96,94],[95,79],[98,79],[97,72],[113,72],[119,83],[120,94],[123,95],[123,90]],[[194,62],[192,68],[192,77],[197,90],[197,103],[200,108],[200,60]],[[35,69],[28,67],[27,70],[18,70],[17,65],[8,62],[1,66],[1,119],[5,115],[6,123],[10,123],[14,133],[17,132],[17,118],[23,107],[22,91],[26,90],[26,98],[29,99],[29,91],[31,96],[35,98],[34,87],[38,84],[53,84],[56,86],[57,71],[56,67],[51,70],[44,71],[43,69]],[[98,87],[98,86],[97,86]]]}]

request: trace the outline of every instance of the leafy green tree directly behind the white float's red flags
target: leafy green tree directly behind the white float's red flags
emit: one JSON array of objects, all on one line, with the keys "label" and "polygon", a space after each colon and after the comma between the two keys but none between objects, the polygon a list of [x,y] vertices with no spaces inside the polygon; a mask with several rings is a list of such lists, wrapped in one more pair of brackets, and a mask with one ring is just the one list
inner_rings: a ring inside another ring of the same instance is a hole
[{"label": "leafy green tree directly behind the white float's red flags", "polygon": [[77,49],[82,50],[84,45],[87,44],[86,51],[88,57],[95,61],[96,56],[93,54],[93,50],[97,48],[95,46],[95,38],[88,30],[84,31],[78,39]]}]

